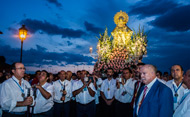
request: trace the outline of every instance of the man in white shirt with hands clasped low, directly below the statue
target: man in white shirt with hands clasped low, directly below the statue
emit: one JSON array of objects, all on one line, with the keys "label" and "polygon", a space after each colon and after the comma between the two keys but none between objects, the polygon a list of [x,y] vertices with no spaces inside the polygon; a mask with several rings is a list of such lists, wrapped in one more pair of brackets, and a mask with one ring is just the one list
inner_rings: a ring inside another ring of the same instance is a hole
[{"label": "man in white shirt with hands clasped low, directly below the statue", "polygon": [[107,79],[101,85],[100,95],[103,99],[103,114],[105,117],[114,116],[114,94],[116,91],[116,80],[113,79],[113,69],[107,69]]}]

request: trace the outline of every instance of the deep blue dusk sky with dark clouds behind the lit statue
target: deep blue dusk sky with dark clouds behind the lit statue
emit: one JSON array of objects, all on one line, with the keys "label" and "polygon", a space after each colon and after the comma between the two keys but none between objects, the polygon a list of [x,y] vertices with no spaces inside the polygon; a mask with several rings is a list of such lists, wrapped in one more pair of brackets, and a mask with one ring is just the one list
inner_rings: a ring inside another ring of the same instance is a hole
[{"label": "deep blue dusk sky with dark clouds behind the lit statue", "polygon": [[97,37],[115,28],[114,15],[129,15],[128,27],[144,26],[148,34],[143,62],[162,72],[173,64],[190,68],[190,0],[0,0],[0,56],[6,63],[20,60],[18,29],[25,24],[23,45],[27,73],[46,69],[93,69]]}]

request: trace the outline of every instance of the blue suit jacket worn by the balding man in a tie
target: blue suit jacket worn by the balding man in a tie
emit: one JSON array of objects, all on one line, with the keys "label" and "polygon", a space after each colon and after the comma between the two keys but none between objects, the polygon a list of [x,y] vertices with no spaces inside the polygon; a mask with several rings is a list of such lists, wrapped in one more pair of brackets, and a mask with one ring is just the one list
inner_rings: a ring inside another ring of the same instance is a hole
[{"label": "blue suit jacket worn by the balding man in a tie", "polygon": [[[144,87],[141,87],[135,101],[133,117],[136,117],[137,102]],[[170,88],[156,80],[147,93],[137,117],[172,117],[173,95]]]}]

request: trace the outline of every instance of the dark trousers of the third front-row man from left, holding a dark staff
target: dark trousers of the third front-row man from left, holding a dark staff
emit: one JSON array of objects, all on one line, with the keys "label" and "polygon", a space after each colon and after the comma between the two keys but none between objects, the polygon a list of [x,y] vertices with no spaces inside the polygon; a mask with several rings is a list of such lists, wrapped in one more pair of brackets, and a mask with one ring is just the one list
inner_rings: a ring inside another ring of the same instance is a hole
[{"label": "dark trousers of the third front-row man from left, holding a dark staff", "polygon": [[69,117],[70,102],[56,103],[54,102],[54,117]]}]

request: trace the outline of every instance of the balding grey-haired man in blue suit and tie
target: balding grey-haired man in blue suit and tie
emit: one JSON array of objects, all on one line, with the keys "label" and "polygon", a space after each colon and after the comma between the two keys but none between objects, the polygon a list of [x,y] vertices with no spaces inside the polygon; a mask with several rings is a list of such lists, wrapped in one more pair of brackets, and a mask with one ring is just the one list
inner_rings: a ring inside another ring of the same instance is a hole
[{"label": "balding grey-haired man in blue suit and tie", "polygon": [[153,65],[144,65],[140,70],[145,86],[137,94],[134,117],[172,117],[172,91],[157,80],[156,71]]}]

